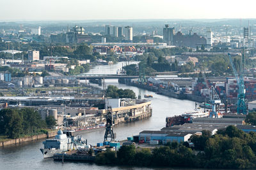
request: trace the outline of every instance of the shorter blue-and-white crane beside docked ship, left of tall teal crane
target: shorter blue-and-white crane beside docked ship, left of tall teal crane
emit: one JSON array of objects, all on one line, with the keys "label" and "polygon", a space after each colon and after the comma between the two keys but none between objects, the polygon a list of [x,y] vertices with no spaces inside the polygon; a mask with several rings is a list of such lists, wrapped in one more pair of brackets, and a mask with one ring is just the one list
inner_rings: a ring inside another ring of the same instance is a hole
[{"label": "shorter blue-and-white crane beside docked ship, left of tall teal crane", "polygon": [[203,70],[204,72],[202,73],[203,77],[204,77],[204,81],[206,83],[206,86],[207,86],[207,89],[210,90],[210,103],[212,105],[212,110],[210,111],[210,117],[215,117],[215,118],[218,118],[218,110],[219,110],[219,105],[221,103],[221,100],[220,100],[220,97],[218,96],[216,90],[214,87],[210,87],[210,85],[208,84],[208,81],[206,79],[206,76],[205,76],[205,70],[204,69],[201,69]]}]

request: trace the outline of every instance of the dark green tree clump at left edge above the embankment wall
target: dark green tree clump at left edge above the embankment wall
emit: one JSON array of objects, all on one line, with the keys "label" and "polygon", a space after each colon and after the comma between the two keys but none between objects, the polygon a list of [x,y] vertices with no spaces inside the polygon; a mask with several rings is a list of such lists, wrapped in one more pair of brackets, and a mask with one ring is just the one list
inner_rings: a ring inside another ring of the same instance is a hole
[{"label": "dark green tree clump at left edge above the embankment wall", "polygon": [[45,133],[45,128],[56,124],[54,118],[42,120],[38,111],[32,108],[3,109],[0,111],[0,134],[8,138]]}]

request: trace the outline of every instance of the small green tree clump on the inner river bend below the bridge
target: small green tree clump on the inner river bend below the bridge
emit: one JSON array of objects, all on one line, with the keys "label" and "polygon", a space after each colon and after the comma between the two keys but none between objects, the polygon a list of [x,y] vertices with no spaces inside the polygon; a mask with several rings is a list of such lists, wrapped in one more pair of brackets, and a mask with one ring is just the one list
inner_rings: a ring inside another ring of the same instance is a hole
[{"label": "small green tree clump on the inner river bend below the bridge", "polygon": [[108,85],[107,97],[135,99],[136,94],[130,89],[118,89],[115,85]]}]

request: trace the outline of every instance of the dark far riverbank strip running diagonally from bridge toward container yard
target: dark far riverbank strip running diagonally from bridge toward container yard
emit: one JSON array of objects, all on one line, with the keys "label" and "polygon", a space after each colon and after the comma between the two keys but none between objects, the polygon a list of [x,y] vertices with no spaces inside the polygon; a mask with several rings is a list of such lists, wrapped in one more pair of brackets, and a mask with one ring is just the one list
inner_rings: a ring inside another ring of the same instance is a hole
[{"label": "dark far riverbank strip running diagonally from bridge toward container yard", "polygon": [[148,90],[151,92],[156,92],[157,94],[161,94],[163,96],[168,96],[168,97],[173,97],[175,99],[195,101],[198,103],[205,102],[205,97],[195,96],[195,95],[193,95],[191,93],[187,93],[187,92],[171,92],[170,90],[160,89],[158,87],[152,87],[152,86],[144,85],[142,83],[140,83],[140,84],[134,83],[131,80],[124,80],[124,79],[118,80],[118,83],[122,83],[125,85],[131,85],[131,86],[138,87],[140,89],[145,89],[145,90]]}]

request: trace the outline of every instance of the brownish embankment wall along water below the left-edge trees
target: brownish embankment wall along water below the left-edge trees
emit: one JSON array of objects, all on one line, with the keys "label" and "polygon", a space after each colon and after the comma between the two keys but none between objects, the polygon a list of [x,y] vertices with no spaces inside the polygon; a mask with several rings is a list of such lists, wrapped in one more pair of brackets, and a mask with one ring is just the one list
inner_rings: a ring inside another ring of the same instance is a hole
[{"label": "brownish embankment wall along water below the left-edge trees", "polygon": [[20,143],[25,143],[28,141],[36,141],[38,139],[44,139],[44,138],[52,138],[56,136],[57,131],[47,132],[47,134],[36,134],[33,136],[28,136],[24,138],[17,138],[17,139],[9,139],[7,141],[0,142],[0,146],[8,146],[8,145],[19,145]]}]

